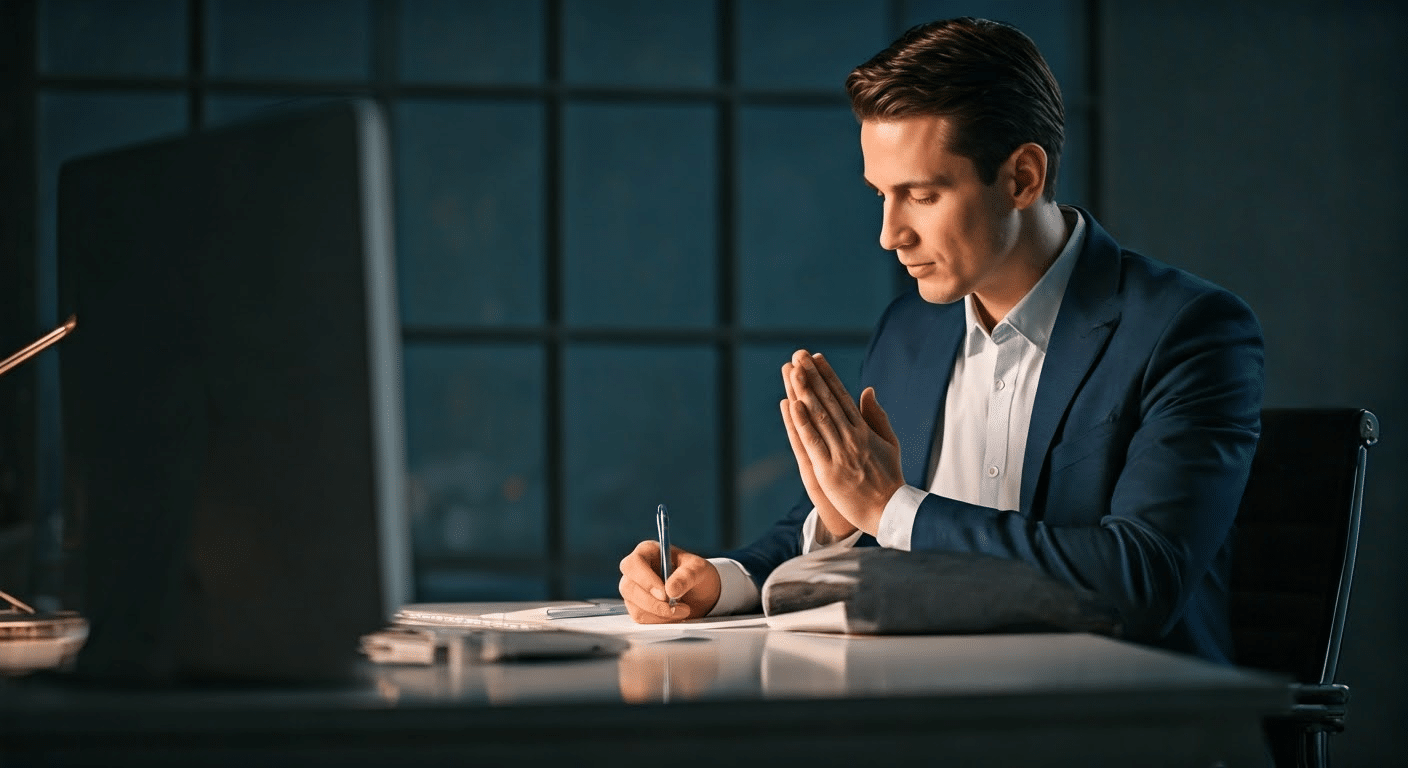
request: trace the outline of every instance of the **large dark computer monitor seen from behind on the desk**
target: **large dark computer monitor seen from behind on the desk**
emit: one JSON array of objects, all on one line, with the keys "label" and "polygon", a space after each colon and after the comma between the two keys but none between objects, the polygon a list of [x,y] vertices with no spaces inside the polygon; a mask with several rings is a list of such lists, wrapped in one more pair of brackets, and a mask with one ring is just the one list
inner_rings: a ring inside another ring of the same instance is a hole
[{"label": "large dark computer monitor seen from behind on the desk", "polygon": [[345,679],[410,599],[390,200],[369,101],[63,166],[80,675]]}]

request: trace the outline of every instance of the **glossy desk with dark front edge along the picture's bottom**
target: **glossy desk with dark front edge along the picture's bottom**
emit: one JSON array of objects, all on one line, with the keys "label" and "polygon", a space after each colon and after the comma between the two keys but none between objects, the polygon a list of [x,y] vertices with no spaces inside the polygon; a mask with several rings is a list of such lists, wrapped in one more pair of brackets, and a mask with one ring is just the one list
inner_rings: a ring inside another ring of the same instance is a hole
[{"label": "glossy desk with dark front edge along the picture's bottom", "polygon": [[[11,765],[1263,765],[1284,681],[1087,634],[765,628],[342,690],[0,685]],[[660,755],[669,755],[667,762]]]}]

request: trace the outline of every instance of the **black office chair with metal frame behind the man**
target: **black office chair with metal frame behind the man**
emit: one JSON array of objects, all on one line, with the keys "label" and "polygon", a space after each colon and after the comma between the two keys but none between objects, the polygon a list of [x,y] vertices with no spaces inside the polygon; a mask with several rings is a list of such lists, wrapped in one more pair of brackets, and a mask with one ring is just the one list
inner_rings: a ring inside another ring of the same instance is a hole
[{"label": "black office chair with metal frame behind the man", "polygon": [[1266,409],[1232,540],[1236,662],[1287,674],[1293,710],[1264,723],[1280,768],[1329,765],[1349,686],[1335,682],[1378,419],[1359,409]]}]

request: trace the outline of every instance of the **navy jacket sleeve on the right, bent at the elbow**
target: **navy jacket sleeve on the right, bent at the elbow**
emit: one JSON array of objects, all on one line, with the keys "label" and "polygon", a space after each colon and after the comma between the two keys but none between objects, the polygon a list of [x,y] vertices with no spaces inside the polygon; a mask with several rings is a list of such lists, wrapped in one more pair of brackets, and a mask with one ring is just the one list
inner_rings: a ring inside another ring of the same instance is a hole
[{"label": "navy jacket sleeve on the right, bent at the elbow", "polygon": [[1028,514],[931,493],[911,548],[1031,562],[1110,600],[1126,637],[1166,634],[1226,541],[1246,486],[1262,331],[1235,296],[1201,293],[1135,371],[1124,413],[1036,459],[1049,465]]}]

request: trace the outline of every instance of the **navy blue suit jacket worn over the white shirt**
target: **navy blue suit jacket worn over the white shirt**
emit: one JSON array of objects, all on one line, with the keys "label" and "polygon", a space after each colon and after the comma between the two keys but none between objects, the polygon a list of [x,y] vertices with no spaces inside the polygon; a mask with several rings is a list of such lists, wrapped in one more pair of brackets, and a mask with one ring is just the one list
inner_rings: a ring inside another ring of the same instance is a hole
[{"label": "navy blue suit jacket worn over the white shirt", "polygon": [[[1262,330],[1232,293],[1119,248],[1080,213],[1088,228],[1036,389],[1021,509],[931,493],[911,548],[1031,562],[1108,599],[1128,638],[1229,661],[1228,543],[1260,431]],[[915,488],[928,488],[964,331],[962,302],[908,293],[866,352],[862,386],[876,388]],[[804,495],[725,557],[762,585],[801,554],[811,506]]]}]

